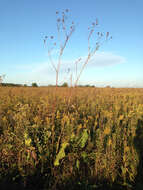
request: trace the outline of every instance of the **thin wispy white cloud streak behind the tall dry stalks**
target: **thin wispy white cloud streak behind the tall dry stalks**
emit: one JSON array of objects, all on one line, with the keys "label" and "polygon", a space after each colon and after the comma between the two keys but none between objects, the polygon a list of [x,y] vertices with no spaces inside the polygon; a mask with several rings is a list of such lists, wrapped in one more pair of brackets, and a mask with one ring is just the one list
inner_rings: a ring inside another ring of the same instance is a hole
[{"label": "thin wispy white cloud streak behind the tall dry stalks", "polygon": [[[84,61],[86,60],[86,57],[82,57],[82,60],[80,63],[78,63],[78,69],[82,67],[84,64]],[[75,61],[76,59],[73,60],[62,60],[61,61],[61,68],[60,71],[62,73],[66,73],[69,71],[75,71]],[[106,67],[106,66],[113,66],[117,64],[122,64],[125,63],[126,60],[124,57],[116,55],[111,52],[98,52],[95,54],[91,60],[89,61],[87,67]],[[55,65],[57,65],[57,61],[54,60]],[[47,74],[54,74],[54,69],[49,62],[47,63],[40,63],[38,64],[33,70],[32,73],[37,73],[37,74],[42,74],[42,75],[47,75]]]}]

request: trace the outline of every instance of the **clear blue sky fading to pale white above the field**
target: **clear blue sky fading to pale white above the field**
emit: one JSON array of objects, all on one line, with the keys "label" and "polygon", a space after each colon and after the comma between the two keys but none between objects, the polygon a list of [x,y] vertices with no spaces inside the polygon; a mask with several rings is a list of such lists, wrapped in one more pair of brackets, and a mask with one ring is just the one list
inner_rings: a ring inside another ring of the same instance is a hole
[{"label": "clear blue sky fading to pale white above the field", "polygon": [[[3,82],[31,85],[55,84],[60,43],[57,19],[66,12],[67,31],[72,33],[61,57],[59,84],[75,83],[88,55],[88,27],[112,36],[91,57],[78,84],[112,87],[143,87],[143,1],[142,0],[0,0],[0,75]],[[58,11],[58,14],[56,14]],[[48,36],[44,44],[45,36]],[[50,39],[53,36],[54,39]],[[103,36],[103,37],[104,37]],[[64,42],[64,33],[60,34]],[[81,62],[75,64],[81,58]]]}]

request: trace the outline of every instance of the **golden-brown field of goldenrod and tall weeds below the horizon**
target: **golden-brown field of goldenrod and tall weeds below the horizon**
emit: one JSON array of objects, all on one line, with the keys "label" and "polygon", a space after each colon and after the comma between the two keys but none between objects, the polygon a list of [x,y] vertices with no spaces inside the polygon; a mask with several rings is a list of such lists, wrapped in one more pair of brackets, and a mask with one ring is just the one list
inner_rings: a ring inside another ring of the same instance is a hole
[{"label": "golden-brown field of goldenrod and tall weeds below the horizon", "polygon": [[142,189],[142,159],[143,89],[0,87],[1,186]]}]

